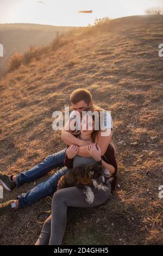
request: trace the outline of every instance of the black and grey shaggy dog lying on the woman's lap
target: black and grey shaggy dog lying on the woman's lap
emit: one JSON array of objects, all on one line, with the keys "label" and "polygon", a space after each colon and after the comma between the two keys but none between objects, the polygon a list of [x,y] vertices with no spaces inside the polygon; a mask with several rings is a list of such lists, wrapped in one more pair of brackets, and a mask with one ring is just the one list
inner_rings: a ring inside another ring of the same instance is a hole
[{"label": "black and grey shaggy dog lying on the woman's lap", "polygon": [[111,180],[112,177],[109,170],[104,169],[102,164],[83,164],[70,169],[69,172],[61,176],[57,190],[73,186],[82,188],[86,195],[86,202],[92,204],[95,196],[90,185],[93,185],[98,190],[107,191]]}]

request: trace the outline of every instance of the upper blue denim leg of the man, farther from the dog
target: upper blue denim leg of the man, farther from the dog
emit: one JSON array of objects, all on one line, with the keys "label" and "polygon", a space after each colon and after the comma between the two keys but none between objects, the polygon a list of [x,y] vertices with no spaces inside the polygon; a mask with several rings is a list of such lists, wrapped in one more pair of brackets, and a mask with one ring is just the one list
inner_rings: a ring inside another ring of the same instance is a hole
[{"label": "upper blue denim leg of the man, farther from the dog", "polygon": [[45,160],[43,160],[41,163],[37,164],[33,168],[27,170],[26,172],[18,174],[16,176],[17,187],[21,186],[26,182],[30,182],[40,178],[54,168],[63,167],[65,155],[66,149],[63,149],[57,153],[47,156]]}]

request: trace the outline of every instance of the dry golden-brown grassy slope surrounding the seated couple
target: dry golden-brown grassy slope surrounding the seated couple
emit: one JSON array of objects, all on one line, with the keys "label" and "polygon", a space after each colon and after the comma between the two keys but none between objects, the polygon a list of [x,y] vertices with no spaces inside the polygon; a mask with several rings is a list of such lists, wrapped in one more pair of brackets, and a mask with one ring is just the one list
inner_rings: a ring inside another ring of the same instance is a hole
[{"label": "dry golden-brown grassy slope surrounding the seated couple", "polygon": [[[64,110],[74,89],[89,89],[95,103],[111,111],[119,186],[105,204],[73,217],[64,245],[163,243],[162,23],[163,16],[132,16],[78,29],[0,82],[0,169],[8,174],[65,148],[60,131],[52,130],[52,113]],[[5,191],[1,202],[47,178]],[[47,209],[42,199],[1,217],[1,244],[34,244],[42,227],[36,215]]]}]

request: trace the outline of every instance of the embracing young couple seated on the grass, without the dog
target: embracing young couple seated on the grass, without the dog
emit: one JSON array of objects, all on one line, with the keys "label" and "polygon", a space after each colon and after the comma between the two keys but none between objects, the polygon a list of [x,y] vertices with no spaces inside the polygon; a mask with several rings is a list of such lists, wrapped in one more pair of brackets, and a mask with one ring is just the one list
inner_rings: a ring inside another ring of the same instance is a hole
[{"label": "embracing young couple seated on the grass, without the dog", "polygon": [[[34,181],[52,169],[61,167],[49,179],[27,193],[20,194],[16,200],[0,204],[0,216],[2,216],[54,193],[52,214],[45,221],[35,245],[61,245],[66,221],[70,220],[74,212],[79,208],[103,204],[115,189],[117,163],[114,144],[111,142],[113,131],[111,115],[95,106],[91,93],[85,89],[74,90],[70,96],[70,102],[74,111],[61,132],[61,140],[67,144],[67,148],[47,156],[41,163],[18,175],[0,173],[0,182],[3,187],[12,191],[15,186]],[[86,112],[88,114],[83,114]],[[80,113],[80,124],[76,113]],[[100,113],[102,113],[102,119],[99,118]],[[99,130],[95,129],[97,121]],[[72,124],[75,124],[77,129],[72,129]],[[82,188],[68,187],[57,191],[59,179],[70,168],[99,161],[104,168],[110,171],[113,180],[110,182],[108,191],[98,190],[91,185],[95,196],[92,204],[86,202]]]}]

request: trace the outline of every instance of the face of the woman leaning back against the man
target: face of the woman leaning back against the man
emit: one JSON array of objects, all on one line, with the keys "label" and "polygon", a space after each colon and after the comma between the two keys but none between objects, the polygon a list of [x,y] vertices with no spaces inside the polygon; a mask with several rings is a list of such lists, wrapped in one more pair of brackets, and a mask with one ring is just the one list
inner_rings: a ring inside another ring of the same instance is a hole
[{"label": "face of the woman leaning back against the man", "polygon": [[95,122],[90,115],[85,114],[80,122],[80,131],[83,135],[90,135],[95,130]]}]

